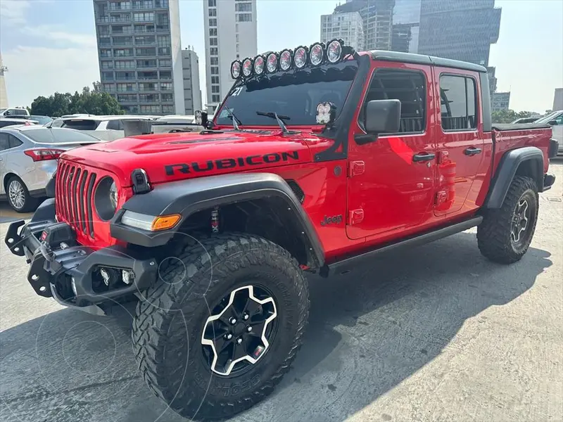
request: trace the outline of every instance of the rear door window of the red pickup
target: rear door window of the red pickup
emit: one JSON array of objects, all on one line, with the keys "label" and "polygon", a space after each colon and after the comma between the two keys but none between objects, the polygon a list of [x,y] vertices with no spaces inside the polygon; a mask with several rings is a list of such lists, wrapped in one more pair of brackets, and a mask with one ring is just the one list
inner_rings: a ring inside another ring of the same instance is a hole
[{"label": "rear door window of the red pickup", "polygon": [[477,96],[471,77],[441,75],[442,129],[464,131],[477,127]]}]

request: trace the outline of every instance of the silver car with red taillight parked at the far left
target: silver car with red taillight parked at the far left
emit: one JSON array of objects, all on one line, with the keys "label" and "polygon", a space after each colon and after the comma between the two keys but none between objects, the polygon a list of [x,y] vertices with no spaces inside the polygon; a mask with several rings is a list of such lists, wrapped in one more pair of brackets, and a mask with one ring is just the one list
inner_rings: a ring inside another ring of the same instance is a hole
[{"label": "silver car with red taillight parked at the far left", "polygon": [[28,212],[44,198],[45,187],[64,151],[102,142],[73,129],[8,126],[0,129],[0,198]]}]

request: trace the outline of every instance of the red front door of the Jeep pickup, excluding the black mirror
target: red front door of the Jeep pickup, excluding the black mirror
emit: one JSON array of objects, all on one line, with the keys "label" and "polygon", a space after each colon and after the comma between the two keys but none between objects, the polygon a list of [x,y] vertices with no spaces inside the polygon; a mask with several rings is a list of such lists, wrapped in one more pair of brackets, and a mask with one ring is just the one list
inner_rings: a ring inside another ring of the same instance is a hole
[{"label": "red front door of the Jeep pickup, excluding the black mirror", "polygon": [[400,132],[381,134],[369,143],[355,141],[365,133],[363,107],[360,110],[358,127],[350,131],[349,141],[349,238],[401,231],[431,217],[436,162],[429,129],[433,93],[427,66],[386,63],[385,68],[374,70],[364,104],[400,100]]}]

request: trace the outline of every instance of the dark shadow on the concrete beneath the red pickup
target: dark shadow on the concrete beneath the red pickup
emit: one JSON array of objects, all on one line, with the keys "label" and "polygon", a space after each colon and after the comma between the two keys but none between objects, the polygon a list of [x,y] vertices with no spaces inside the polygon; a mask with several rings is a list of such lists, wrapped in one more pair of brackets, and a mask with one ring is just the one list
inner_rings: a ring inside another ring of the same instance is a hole
[{"label": "dark shadow on the concrete beneath the red pickup", "polygon": [[[467,319],[505,305],[552,264],[488,262],[461,233],[310,281],[310,324],[276,392],[233,421],[342,421],[450,345]],[[38,299],[39,300],[39,299]],[[185,421],[148,391],[130,344],[129,309],[109,318],[63,309],[0,333],[4,421]],[[386,415],[387,416],[387,415]]]}]

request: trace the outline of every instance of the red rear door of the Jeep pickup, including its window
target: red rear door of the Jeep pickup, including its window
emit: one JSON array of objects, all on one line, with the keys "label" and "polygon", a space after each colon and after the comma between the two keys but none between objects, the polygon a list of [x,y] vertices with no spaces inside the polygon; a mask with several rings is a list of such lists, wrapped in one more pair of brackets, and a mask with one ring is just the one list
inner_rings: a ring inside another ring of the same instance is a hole
[{"label": "red rear door of the Jeep pickup, including its window", "polygon": [[476,207],[472,191],[483,160],[482,122],[479,121],[479,75],[469,70],[434,68],[440,113],[436,125],[438,180],[436,215]]}]

